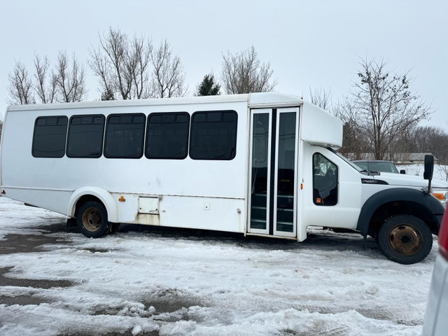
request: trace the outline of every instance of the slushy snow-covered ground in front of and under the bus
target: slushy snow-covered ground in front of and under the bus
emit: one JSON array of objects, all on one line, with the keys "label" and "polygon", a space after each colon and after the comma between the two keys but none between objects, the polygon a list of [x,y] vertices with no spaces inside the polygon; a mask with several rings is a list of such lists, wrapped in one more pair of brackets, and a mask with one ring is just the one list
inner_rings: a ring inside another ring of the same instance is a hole
[{"label": "slushy snow-covered ground in front of and under the bus", "polygon": [[[130,225],[87,239],[65,219],[0,197],[0,246],[52,241],[0,254],[12,282],[0,335],[421,334],[436,240],[399,265],[370,239],[363,250],[362,237],[323,230],[297,243]],[[64,286],[13,284],[23,279]]]}]

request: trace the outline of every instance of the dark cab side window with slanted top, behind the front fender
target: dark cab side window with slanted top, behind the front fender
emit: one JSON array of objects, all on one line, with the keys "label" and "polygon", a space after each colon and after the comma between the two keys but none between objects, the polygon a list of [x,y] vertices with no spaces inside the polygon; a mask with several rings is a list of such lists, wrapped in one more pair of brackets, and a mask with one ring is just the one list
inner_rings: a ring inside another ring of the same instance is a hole
[{"label": "dark cab side window with slanted top, behind the front fender", "polygon": [[313,155],[313,202],[316,205],[337,204],[337,165],[321,153]]}]

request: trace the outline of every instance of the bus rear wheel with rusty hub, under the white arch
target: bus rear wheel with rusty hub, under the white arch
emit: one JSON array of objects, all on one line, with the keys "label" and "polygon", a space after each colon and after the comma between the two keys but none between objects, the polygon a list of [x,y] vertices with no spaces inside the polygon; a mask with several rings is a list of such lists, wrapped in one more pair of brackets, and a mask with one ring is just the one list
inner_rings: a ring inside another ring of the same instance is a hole
[{"label": "bus rear wheel with rusty hub, under the white arch", "polygon": [[88,238],[99,238],[109,230],[107,211],[103,204],[89,201],[81,204],[76,213],[80,232]]}]

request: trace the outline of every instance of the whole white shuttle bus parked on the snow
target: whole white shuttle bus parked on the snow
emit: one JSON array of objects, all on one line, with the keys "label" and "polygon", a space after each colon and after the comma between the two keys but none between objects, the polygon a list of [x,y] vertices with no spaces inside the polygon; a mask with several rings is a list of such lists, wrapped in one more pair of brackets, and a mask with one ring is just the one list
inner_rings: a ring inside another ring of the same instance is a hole
[{"label": "whole white shuttle bus parked on the snow", "polygon": [[315,225],[423,260],[444,211],[428,183],[361,171],[340,146],[341,120],[285,94],[9,106],[0,188],[87,237],[139,223],[303,241]]}]

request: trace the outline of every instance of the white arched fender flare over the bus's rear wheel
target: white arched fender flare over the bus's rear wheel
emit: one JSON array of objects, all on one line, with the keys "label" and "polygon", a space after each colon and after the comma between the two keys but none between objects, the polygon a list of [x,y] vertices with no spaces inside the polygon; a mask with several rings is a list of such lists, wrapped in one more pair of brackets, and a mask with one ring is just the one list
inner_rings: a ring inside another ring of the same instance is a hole
[{"label": "white arched fender flare over the bus's rear wheel", "polygon": [[116,201],[113,200],[111,193],[98,187],[82,187],[76,189],[73,194],[71,194],[69,200],[69,207],[67,208],[67,214],[69,214],[69,216],[75,216],[76,203],[81,197],[86,195],[97,197],[104,204],[109,222],[118,222],[118,206]]}]

